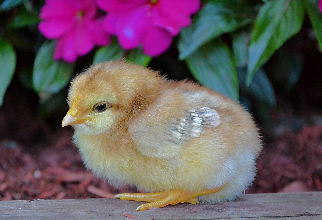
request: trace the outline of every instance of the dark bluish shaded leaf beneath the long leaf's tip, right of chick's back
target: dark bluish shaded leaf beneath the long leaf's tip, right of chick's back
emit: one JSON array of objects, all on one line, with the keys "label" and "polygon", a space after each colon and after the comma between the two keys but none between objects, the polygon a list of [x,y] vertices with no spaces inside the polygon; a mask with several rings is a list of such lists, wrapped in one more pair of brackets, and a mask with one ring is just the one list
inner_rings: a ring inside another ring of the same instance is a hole
[{"label": "dark bluish shaded leaf beneath the long leaf's tip, right of chick's back", "polygon": [[262,69],[255,72],[254,79],[247,87],[246,81],[246,67],[237,68],[239,86],[241,90],[247,91],[252,97],[257,100],[265,102],[268,106],[273,107],[276,105],[276,97],[270,80]]}]

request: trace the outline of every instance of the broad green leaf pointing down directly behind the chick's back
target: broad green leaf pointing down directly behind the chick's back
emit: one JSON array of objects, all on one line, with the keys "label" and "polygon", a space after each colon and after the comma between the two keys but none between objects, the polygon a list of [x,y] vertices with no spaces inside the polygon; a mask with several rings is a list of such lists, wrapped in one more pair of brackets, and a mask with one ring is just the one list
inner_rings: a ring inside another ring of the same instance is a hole
[{"label": "broad green leaf pointing down directly behind the chick's back", "polygon": [[203,85],[238,101],[236,66],[229,47],[215,39],[185,59],[194,77]]}]

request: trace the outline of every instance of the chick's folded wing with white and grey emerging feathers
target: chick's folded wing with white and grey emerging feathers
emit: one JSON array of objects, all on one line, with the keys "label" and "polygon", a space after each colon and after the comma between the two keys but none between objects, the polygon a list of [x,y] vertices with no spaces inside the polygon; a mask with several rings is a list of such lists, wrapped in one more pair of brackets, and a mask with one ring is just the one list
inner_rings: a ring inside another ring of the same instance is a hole
[{"label": "chick's folded wing with white and grey emerging feathers", "polygon": [[[192,105],[194,103],[194,105]],[[176,157],[203,129],[220,124],[214,108],[189,99],[189,95],[164,94],[147,106],[129,126],[138,152],[148,157]]]}]

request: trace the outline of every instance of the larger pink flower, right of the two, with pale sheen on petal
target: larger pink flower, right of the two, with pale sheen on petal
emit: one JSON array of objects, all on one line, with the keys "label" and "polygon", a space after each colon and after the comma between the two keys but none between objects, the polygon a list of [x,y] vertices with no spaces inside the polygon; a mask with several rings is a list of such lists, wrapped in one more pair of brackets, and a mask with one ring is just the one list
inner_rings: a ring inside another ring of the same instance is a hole
[{"label": "larger pink flower, right of the two, with pale sheen on petal", "polygon": [[147,55],[157,56],[171,45],[182,27],[191,24],[190,15],[200,0],[97,0],[108,14],[103,27],[118,37],[124,49],[142,45]]}]

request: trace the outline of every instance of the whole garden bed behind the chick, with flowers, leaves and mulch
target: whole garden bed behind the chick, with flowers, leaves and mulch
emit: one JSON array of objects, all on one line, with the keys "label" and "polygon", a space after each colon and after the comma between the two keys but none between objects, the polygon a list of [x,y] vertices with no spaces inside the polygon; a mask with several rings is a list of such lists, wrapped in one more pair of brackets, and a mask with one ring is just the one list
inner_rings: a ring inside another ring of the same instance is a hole
[{"label": "whole garden bed behind the chick, with flowers, leaves and mulch", "polygon": [[62,128],[71,77],[125,59],[231,97],[265,151],[247,193],[322,190],[322,1],[0,0],[0,199],[111,198]]}]

